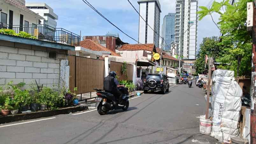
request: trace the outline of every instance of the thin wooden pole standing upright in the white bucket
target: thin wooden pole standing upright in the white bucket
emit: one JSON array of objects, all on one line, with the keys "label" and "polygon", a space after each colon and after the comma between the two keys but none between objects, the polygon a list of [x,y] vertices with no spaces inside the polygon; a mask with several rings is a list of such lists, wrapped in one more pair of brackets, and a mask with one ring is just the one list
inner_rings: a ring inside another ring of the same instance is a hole
[{"label": "thin wooden pole standing upright in the white bucket", "polygon": [[205,111],[205,119],[208,119],[209,115],[209,97],[210,97],[210,86],[211,86],[211,68],[213,66],[213,58],[209,58],[209,71],[208,71],[208,87],[207,87],[207,101],[206,101],[206,111]]}]

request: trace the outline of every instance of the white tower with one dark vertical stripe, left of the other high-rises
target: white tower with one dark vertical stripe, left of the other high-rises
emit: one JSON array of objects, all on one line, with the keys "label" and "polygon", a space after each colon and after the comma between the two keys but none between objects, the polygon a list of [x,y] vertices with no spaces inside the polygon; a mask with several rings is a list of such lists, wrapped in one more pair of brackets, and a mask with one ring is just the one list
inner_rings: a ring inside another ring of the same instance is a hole
[{"label": "white tower with one dark vertical stripe, left of the other high-rises", "polygon": [[159,47],[160,3],[158,0],[139,0],[138,3],[139,14],[146,21],[139,16],[139,43],[155,44],[156,47]]}]

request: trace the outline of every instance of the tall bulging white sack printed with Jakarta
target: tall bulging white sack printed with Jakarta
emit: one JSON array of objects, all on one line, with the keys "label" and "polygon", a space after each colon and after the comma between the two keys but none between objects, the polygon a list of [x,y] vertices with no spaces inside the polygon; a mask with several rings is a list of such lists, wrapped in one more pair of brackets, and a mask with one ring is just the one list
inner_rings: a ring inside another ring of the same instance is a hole
[{"label": "tall bulging white sack printed with Jakarta", "polygon": [[230,143],[238,136],[242,89],[234,79],[234,72],[216,70],[212,78],[212,130],[211,136]]}]

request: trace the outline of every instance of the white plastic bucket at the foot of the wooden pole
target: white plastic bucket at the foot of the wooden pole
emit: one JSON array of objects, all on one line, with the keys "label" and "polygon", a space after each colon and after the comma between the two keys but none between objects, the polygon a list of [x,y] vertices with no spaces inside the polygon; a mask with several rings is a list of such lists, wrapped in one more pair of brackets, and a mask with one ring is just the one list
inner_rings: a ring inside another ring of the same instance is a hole
[{"label": "white plastic bucket at the foot of the wooden pole", "polygon": [[199,127],[199,132],[201,134],[210,134],[211,133],[211,127],[212,127],[212,120],[205,119],[205,115],[200,116],[200,127]]}]

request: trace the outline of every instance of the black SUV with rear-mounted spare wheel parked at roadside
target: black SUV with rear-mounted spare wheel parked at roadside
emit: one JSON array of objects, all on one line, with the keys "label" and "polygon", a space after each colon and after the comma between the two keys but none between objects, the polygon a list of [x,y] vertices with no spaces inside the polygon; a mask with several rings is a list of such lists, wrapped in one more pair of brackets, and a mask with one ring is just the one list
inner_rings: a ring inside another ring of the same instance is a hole
[{"label": "black SUV with rear-mounted spare wheel parked at roadside", "polygon": [[166,74],[158,73],[149,73],[144,79],[144,93],[147,93],[149,90],[161,91],[163,94],[169,92],[169,80]]}]

